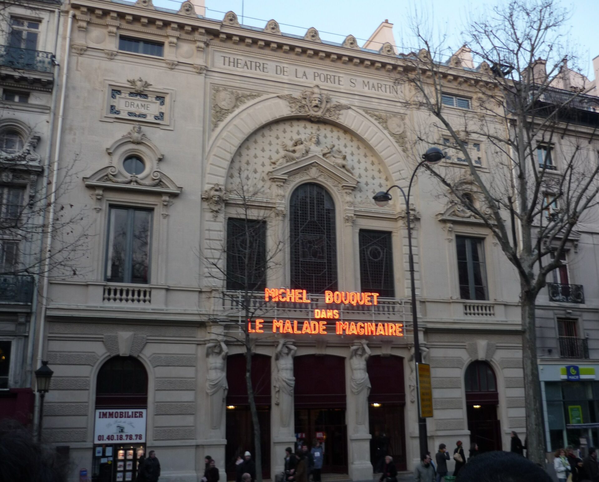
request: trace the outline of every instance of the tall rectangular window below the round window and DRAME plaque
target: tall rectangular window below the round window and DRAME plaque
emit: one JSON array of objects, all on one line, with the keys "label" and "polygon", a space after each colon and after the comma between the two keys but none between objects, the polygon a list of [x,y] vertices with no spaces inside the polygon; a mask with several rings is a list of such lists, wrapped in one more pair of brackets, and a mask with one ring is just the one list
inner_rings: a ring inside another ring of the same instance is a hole
[{"label": "tall rectangular window below the round window and DRAME plaque", "polygon": [[106,281],[149,283],[152,214],[143,209],[110,208]]}]

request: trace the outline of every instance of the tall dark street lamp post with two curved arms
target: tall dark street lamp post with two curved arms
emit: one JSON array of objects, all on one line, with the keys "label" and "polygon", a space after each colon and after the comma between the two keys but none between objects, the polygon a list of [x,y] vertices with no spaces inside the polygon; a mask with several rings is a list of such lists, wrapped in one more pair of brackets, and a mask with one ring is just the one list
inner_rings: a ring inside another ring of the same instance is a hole
[{"label": "tall dark street lamp post with two curved arms", "polygon": [[[437,147],[431,147],[424,154],[422,154],[422,160],[412,172],[412,177],[410,178],[410,184],[408,185],[408,193],[406,196],[406,192],[401,189],[400,186],[394,185],[389,187],[385,192],[380,191],[377,192],[376,195],[373,196],[374,202],[379,207],[386,206],[389,201],[391,201],[391,194],[389,191],[394,187],[397,187],[401,191],[401,194],[404,196],[404,201],[406,202],[406,223],[408,228],[408,260],[410,266],[410,283],[411,291],[412,291],[412,330],[414,333],[414,363],[416,364],[416,393],[418,393],[418,363],[422,363],[422,354],[420,353],[420,341],[418,339],[418,313],[416,313],[416,285],[414,282],[414,255],[412,253],[412,226],[410,222],[410,193],[412,192],[412,182],[416,176],[416,171],[418,168],[422,166],[424,163],[428,163],[429,165],[435,165],[441,162],[445,154]],[[420,404],[420,399],[419,399]],[[420,413],[418,414],[418,438],[420,441],[420,454],[425,454],[428,452],[428,440],[426,435],[426,419],[420,417]]]}]

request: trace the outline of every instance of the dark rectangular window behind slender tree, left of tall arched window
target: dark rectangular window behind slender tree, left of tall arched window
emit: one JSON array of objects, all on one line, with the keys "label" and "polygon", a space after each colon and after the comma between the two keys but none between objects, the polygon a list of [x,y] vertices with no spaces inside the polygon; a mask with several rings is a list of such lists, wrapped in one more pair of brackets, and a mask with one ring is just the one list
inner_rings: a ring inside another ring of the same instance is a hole
[{"label": "dark rectangular window behind slender tree, left of tall arched window", "polygon": [[226,288],[261,291],[266,287],[266,222],[227,220]]}]

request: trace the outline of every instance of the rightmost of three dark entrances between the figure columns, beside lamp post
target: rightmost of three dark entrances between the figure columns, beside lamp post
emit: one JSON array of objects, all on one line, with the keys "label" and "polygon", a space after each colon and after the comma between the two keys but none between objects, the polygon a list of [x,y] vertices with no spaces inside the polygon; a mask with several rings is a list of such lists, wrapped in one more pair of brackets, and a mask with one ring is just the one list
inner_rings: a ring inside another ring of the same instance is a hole
[{"label": "rightmost of three dark entrances between the figure columns, beside lamp post", "polygon": [[406,385],[404,359],[373,355],[368,359],[372,386],[368,397],[370,425],[370,462],[373,471],[382,472],[385,456],[391,455],[398,470],[406,470],[406,428],[404,407]]}]

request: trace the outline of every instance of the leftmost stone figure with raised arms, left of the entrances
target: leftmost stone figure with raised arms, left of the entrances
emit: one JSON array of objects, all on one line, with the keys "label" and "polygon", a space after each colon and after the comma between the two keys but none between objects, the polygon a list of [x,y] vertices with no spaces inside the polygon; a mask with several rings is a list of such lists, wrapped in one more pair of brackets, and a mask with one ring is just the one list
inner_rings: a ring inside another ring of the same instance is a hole
[{"label": "leftmost stone figure with raised arms, left of the entrances", "polygon": [[208,377],[206,392],[208,392],[208,407],[210,408],[210,428],[220,427],[226,392],[226,356],[229,353],[223,341],[210,340],[206,345]]}]

